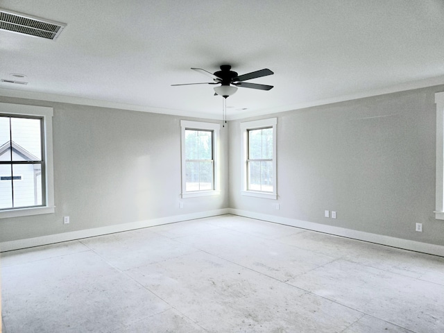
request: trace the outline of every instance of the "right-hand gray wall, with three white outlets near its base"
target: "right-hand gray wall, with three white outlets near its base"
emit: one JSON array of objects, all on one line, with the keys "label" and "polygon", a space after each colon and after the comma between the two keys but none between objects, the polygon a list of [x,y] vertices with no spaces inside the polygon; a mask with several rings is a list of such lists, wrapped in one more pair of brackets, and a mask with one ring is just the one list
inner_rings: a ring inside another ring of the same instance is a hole
[{"label": "right-hand gray wall, with three white outlets near its base", "polygon": [[[433,213],[434,93],[443,89],[272,115],[278,117],[278,200],[240,195],[239,123],[253,118],[231,121],[230,207],[444,245],[444,221]],[[325,210],[337,218],[326,219]],[[423,232],[415,231],[416,222]]]}]

